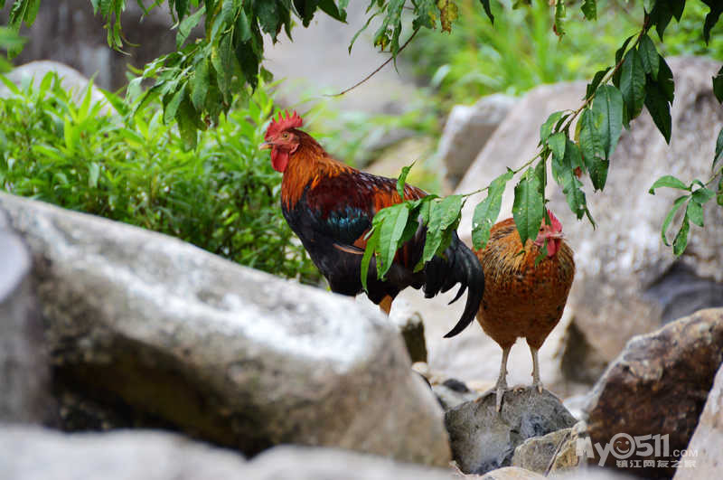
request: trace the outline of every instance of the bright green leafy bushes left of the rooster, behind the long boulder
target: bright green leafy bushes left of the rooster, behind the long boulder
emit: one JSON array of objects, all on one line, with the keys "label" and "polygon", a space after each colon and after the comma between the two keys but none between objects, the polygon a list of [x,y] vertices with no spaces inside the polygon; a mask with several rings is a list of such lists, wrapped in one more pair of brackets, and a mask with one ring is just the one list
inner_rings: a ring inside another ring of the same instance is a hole
[{"label": "bright green leafy bushes left of the rooster, behind the long boulder", "polygon": [[[4,77],[2,77],[5,80]],[[76,104],[49,74],[0,101],[0,188],[182,240],[243,265],[316,281],[279,209],[280,177],[258,151],[273,99],[258,88],[186,150],[157,105],[117,114]]]}]

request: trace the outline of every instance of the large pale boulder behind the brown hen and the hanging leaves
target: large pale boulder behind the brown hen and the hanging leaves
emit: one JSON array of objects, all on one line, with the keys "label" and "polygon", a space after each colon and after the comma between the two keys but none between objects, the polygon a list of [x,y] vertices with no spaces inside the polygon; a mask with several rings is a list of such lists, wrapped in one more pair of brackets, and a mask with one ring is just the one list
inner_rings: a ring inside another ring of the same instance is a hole
[{"label": "large pale boulder behind the brown hen and the hanging leaves", "polygon": [[[661,189],[654,196],[648,193],[651,184],[664,174],[674,174],[685,181],[708,179],[716,137],[723,126],[723,108],[714,98],[710,84],[720,65],[700,58],[673,58],[669,64],[676,83],[671,145],[666,145],[645,112],[620,137],[605,192],[592,193],[589,179],[582,179],[597,222],[596,231],[588,221],[577,221],[559,187],[549,185],[549,207],[562,221],[577,266],[566,314],[574,317],[578,331],[585,335],[597,357],[606,362],[613,360],[635,334],[650,332],[671,317],[690,315],[700,307],[723,305],[723,297],[717,293],[723,281],[723,210],[709,202],[705,229],[691,228],[689,247],[676,260],[671,249],[662,244],[660,227],[679,193],[671,189]],[[502,121],[457,191],[473,192],[502,174],[508,165],[521,165],[532,158],[540,140],[540,124],[553,111],[577,108],[584,92],[585,82],[544,85],[531,90]],[[512,190],[508,188],[502,198],[500,219],[512,212]],[[465,203],[459,228],[463,240],[470,240],[474,207],[484,195],[474,195]],[[674,267],[676,264],[680,267]],[[681,271],[686,272],[685,276],[680,276]],[[691,278],[696,281],[691,283]],[[660,287],[662,284],[664,288]],[[422,315],[427,318],[425,312]],[[564,322],[565,317],[560,323]],[[564,330],[565,326],[558,325],[557,329]],[[555,351],[551,340],[540,355],[548,348]],[[438,368],[435,345],[427,345],[430,366]],[[460,346],[451,345],[449,349],[459,352]],[[474,348],[479,352],[483,347],[484,344],[476,344]],[[473,352],[472,347],[465,351],[469,353],[461,355],[462,358]],[[559,371],[560,358],[541,356],[543,375]],[[452,364],[455,360],[448,362]],[[511,371],[516,369],[515,363],[511,358]],[[579,368],[585,370],[587,365],[583,363]],[[542,381],[549,382],[545,378]]]}]

